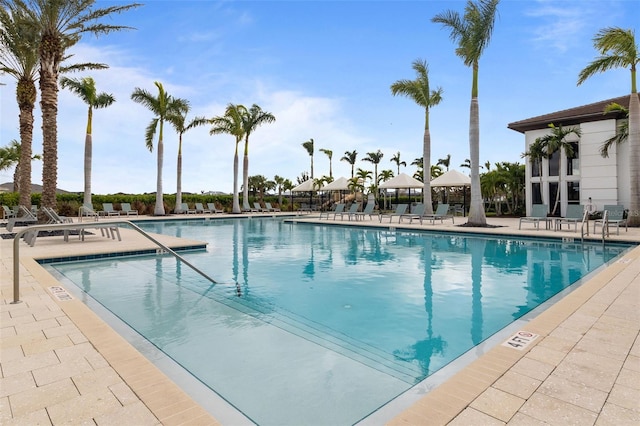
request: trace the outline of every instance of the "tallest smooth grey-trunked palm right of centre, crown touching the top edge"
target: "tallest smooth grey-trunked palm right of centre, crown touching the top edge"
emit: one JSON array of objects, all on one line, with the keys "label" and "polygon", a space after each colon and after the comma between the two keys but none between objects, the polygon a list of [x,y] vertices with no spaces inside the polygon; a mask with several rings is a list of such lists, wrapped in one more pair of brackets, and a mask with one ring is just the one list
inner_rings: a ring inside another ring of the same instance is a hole
[{"label": "tallest smooth grey-trunked palm right of centre, crown touching the top edge", "polygon": [[464,16],[447,10],[433,17],[432,21],[450,30],[450,38],[457,43],[456,55],[464,64],[472,67],[471,107],[469,114],[469,153],[471,156],[471,203],[467,224],[486,226],[487,217],[480,190],[480,112],[478,108],[478,63],[489,45],[496,12],[500,0],[467,1]]}]

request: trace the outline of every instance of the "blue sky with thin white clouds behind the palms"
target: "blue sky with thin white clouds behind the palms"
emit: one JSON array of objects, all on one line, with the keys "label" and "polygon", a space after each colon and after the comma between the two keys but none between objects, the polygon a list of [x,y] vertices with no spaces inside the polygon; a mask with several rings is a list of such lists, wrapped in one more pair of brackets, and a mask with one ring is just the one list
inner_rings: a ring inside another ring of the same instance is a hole
[{"label": "blue sky with thin white clouds behind the palms", "polygon": [[[126,2],[98,1],[101,7]],[[400,152],[410,164],[422,155],[424,111],[393,97],[389,86],[413,79],[411,64],[429,64],[431,85],[443,101],[431,110],[432,162],[451,154],[452,168],[469,157],[471,70],[455,56],[449,32],[431,22],[463,1],[154,1],[115,16],[110,23],[133,31],[86,36],[72,50],[77,62],[102,62],[92,71],[99,91],[116,103],[94,112],[93,192],[155,191],[156,152],[145,147],[151,113],[130,100],[134,88],[156,93],[154,81],[189,100],[190,117],[222,115],[228,103],[256,103],[276,122],[250,138],[249,174],[278,174],[296,181],[309,171],[301,144],[315,140],[315,177],[350,176],[339,161],[378,149],[379,170],[396,171]],[[480,62],[480,162],[520,162],[524,137],[513,121],[629,93],[628,70],[598,75],[576,86],[579,71],[596,57],[592,38],[601,28],[637,26],[635,0],[502,0],[490,45]],[[636,40],[638,40],[636,34]],[[0,77],[0,145],[19,139],[15,82]],[[38,99],[39,102],[39,99]],[[34,152],[41,152],[40,111],[35,111]],[[59,93],[58,186],[83,190],[86,107],[67,90]],[[155,143],[155,141],[154,141]],[[176,191],[178,138],[164,137],[163,189]],[[209,135],[209,127],[184,135],[183,191],[232,190],[234,140]],[[371,163],[356,167],[373,170]],[[402,172],[413,174],[415,166]],[[33,164],[41,183],[41,162]],[[0,172],[0,182],[12,171]]]}]

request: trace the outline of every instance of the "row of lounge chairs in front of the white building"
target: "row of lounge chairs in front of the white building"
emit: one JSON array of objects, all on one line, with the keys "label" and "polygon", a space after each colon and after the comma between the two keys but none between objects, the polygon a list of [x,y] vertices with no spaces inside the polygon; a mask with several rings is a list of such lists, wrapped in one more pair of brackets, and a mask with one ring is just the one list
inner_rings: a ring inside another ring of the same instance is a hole
[{"label": "row of lounge chairs in front of the white building", "polygon": [[[624,225],[625,230],[627,228],[627,221],[624,219],[624,207],[615,205],[615,204],[607,204],[604,206],[604,211],[607,212],[607,232],[609,231],[609,227],[615,225],[616,233],[620,234],[620,226]],[[567,228],[571,230],[571,225],[573,225],[574,232],[578,230],[578,223],[583,220],[588,220],[588,217],[585,217],[585,208],[582,204],[569,204],[567,205],[567,211],[564,217],[548,217],[549,206],[546,204],[534,204],[531,206],[531,214],[529,216],[524,216],[520,218],[518,223],[518,229],[522,229],[522,223],[533,223],[536,230],[540,229],[540,222],[544,222],[545,229],[551,229],[552,224],[555,224],[554,229],[556,231],[561,231],[563,225],[567,225]],[[588,226],[588,225],[587,225]],[[598,226],[601,228],[605,226],[604,219],[596,219],[593,222],[593,232],[596,233]]]}]

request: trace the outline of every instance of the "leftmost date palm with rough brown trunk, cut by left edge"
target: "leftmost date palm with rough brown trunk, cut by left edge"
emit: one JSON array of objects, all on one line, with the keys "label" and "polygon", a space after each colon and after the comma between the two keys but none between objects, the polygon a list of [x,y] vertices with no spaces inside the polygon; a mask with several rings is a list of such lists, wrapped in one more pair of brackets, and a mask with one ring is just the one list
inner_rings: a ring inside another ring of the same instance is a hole
[{"label": "leftmost date palm with rough brown trunk, cut by left edge", "polygon": [[20,111],[20,158],[17,178],[14,176],[14,191],[20,193],[19,204],[31,208],[31,146],[39,34],[24,19],[24,14],[15,7],[0,8],[0,72],[17,80],[16,99]]}]

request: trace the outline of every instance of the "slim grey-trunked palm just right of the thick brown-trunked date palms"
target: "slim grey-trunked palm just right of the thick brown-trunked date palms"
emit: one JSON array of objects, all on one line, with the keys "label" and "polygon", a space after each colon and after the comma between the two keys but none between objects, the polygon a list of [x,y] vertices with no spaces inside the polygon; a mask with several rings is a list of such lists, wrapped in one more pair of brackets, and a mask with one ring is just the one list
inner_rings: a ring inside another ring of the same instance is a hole
[{"label": "slim grey-trunked palm just right of the thick brown-trunked date palms", "polygon": [[93,121],[93,110],[106,108],[113,104],[116,99],[110,93],[98,93],[96,82],[91,77],[72,79],[62,77],[60,86],[75,93],[88,106],[87,110],[87,133],[84,138],[84,199],[83,203],[91,205],[91,163],[93,152],[93,139],[91,127]]}]

